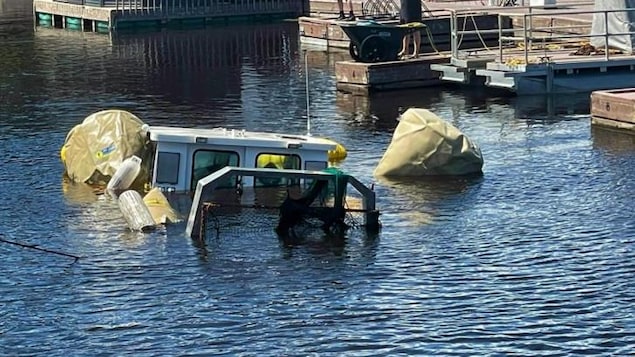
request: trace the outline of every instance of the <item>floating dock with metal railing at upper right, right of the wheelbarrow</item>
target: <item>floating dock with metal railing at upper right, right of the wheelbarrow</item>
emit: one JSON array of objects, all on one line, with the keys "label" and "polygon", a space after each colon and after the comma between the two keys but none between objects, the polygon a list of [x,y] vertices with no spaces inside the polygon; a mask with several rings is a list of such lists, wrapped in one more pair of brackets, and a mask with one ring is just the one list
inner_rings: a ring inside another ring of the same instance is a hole
[{"label": "floating dock with metal railing at upper right, right of the wheelbarrow", "polygon": [[[591,45],[633,36],[593,25],[594,17],[606,19],[630,11],[633,9],[594,9],[592,2],[572,3],[564,9],[506,10],[500,16],[511,17],[514,28],[499,30],[498,46],[472,53],[453,50],[449,63],[431,68],[443,81],[483,84],[518,95],[630,87],[635,82],[633,51]],[[464,31],[456,33],[460,36]]]}]

